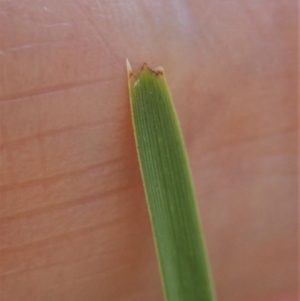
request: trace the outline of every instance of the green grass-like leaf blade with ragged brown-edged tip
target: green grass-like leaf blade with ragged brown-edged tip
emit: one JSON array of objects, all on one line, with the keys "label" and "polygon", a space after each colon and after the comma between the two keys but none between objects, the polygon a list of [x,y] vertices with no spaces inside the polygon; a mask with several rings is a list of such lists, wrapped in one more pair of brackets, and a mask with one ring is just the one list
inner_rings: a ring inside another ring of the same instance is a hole
[{"label": "green grass-like leaf blade with ragged brown-edged tip", "polygon": [[136,147],[165,300],[212,301],[213,288],[182,135],[161,67],[128,85]]}]

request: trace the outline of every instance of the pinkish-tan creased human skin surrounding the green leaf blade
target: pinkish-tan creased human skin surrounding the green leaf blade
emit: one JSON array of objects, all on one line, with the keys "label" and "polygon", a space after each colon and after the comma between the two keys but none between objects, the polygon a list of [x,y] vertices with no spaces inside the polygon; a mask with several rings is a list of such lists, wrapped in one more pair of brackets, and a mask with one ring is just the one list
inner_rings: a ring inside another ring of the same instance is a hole
[{"label": "pinkish-tan creased human skin surrounding the green leaf blade", "polygon": [[218,300],[297,300],[296,1],[0,1],[0,28],[1,300],[163,300],[126,58],[166,71]]}]

